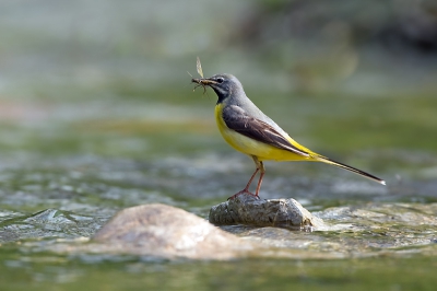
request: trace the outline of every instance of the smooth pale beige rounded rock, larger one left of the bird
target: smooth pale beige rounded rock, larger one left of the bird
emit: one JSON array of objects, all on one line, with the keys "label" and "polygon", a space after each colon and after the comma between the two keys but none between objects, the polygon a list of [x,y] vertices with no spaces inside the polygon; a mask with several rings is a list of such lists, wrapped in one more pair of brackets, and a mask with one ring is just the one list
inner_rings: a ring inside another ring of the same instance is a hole
[{"label": "smooth pale beige rounded rock, larger one left of the bird", "polygon": [[[143,205],[118,212],[93,237],[92,252],[174,258],[229,259],[251,244],[206,220],[165,205]],[[103,245],[102,245],[103,244]]]}]

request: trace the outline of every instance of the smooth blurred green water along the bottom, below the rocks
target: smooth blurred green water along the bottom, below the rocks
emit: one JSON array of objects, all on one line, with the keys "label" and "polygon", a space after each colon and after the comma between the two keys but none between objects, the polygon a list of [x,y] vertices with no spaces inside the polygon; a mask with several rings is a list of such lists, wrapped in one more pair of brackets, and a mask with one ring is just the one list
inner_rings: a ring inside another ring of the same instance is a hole
[{"label": "smooth blurred green water along the bottom, below the rocks", "polygon": [[426,256],[170,263],[2,252],[1,259],[0,278],[13,290],[434,290],[436,283],[436,260]]}]

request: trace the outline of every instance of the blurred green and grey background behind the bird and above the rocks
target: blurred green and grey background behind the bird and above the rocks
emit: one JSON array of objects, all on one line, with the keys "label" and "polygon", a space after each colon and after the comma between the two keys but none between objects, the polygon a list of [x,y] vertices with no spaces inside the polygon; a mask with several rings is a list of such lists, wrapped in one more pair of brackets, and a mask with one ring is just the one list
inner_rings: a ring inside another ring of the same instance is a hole
[{"label": "blurred green and grey background behind the bird and above the rocks", "polygon": [[[1,0],[0,36],[0,219],[17,230],[0,243],[90,236],[146,202],[208,217],[240,190],[253,165],[222,140],[214,92],[193,92],[198,56],[297,141],[388,183],[267,163],[263,198],[437,200],[434,0]],[[93,223],[24,222],[48,208]]]}]

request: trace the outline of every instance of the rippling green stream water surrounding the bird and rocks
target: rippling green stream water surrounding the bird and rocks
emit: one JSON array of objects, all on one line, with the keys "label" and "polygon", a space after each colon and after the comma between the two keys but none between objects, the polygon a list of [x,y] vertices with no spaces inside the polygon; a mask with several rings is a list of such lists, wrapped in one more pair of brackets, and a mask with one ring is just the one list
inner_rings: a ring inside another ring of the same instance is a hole
[{"label": "rippling green stream water surrounding the bird and rocks", "polygon": [[[434,290],[432,62],[400,65],[364,51],[343,81],[299,79],[245,47],[211,55],[221,51],[226,22],[197,2],[154,18],[144,15],[147,5],[173,7],[130,2],[121,13],[110,1],[40,2],[38,10],[15,1],[0,9],[9,37],[0,45],[3,289]],[[235,19],[247,5],[214,9]],[[87,14],[102,8],[98,18]],[[292,45],[283,45],[285,54]],[[55,252],[86,244],[127,207],[161,202],[206,218],[246,184],[252,162],[221,139],[214,93],[189,84],[197,55],[206,75],[235,73],[296,140],[388,186],[322,164],[267,163],[261,196],[293,197],[328,229],[227,228],[265,243],[260,256],[232,261]]]}]

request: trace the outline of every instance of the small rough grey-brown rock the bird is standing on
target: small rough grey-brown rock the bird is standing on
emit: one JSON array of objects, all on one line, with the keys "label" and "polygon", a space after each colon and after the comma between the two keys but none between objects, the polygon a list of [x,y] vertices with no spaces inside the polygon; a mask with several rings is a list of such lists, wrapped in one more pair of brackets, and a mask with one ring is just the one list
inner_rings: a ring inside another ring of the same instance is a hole
[{"label": "small rough grey-brown rock the bird is standing on", "polygon": [[321,219],[314,217],[293,198],[258,200],[248,194],[212,207],[209,220],[215,225],[246,224],[293,230],[311,230],[323,225]]}]

